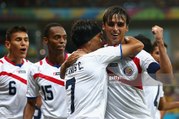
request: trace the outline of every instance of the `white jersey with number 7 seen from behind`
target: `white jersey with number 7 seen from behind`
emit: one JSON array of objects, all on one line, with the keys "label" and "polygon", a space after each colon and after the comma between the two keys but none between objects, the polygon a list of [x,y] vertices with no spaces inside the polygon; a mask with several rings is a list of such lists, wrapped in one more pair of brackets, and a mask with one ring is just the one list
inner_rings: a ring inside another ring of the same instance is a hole
[{"label": "white jersey with number 7 seen from behind", "polygon": [[121,58],[121,45],[101,48],[80,57],[67,69],[65,85],[68,119],[104,119],[107,65]]}]

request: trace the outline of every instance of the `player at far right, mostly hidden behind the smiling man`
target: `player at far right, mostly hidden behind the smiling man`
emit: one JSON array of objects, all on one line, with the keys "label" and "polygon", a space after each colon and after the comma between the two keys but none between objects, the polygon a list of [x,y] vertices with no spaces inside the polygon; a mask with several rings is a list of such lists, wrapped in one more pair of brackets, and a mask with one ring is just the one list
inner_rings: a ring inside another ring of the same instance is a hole
[{"label": "player at far right, mostly hidden behind the smiling man", "polygon": [[[163,28],[157,27],[156,29],[162,30]],[[157,34],[155,34],[157,35]],[[135,36],[138,40],[142,41],[144,43],[144,50],[151,53],[151,55],[154,57],[154,59],[160,63],[160,55],[163,55],[166,53],[167,55],[167,45],[164,43],[165,51],[162,52],[161,49],[159,49],[157,42],[154,41],[152,44],[150,39],[143,35],[137,35]],[[161,53],[162,52],[162,53]],[[169,109],[174,109],[179,107],[179,102],[167,102],[164,96],[163,91],[163,84],[155,79],[151,80],[151,77],[146,74],[145,75],[145,85],[144,85],[144,93],[145,93],[145,100],[147,102],[147,106],[151,111],[151,115],[153,116],[153,119],[162,119],[164,112]],[[160,113],[161,111],[161,113]]]}]

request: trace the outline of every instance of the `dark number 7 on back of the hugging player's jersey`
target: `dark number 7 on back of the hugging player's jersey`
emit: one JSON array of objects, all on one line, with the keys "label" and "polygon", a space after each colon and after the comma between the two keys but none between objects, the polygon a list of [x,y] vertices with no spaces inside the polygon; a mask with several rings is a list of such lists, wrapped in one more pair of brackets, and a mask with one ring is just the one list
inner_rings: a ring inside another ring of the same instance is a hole
[{"label": "dark number 7 on back of the hugging player's jersey", "polygon": [[75,77],[66,81],[66,89],[68,89],[69,86],[71,87],[71,114],[75,111],[75,106],[74,106],[75,82],[76,82]]}]

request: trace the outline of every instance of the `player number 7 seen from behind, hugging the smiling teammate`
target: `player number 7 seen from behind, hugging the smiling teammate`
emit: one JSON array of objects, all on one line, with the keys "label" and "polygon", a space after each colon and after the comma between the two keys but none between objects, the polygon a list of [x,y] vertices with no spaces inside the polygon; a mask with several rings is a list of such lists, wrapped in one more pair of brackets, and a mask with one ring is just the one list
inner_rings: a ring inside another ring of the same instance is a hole
[{"label": "player number 7 seen from behind, hugging the smiling teammate", "polygon": [[[66,71],[68,119],[104,119],[107,101],[107,65],[122,57],[138,53],[143,44],[134,38],[129,38],[125,45],[101,48],[103,45],[101,28],[92,20],[77,20],[72,26],[71,35],[78,49],[61,68],[62,77]],[[79,58],[69,65],[68,62],[71,62],[74,55]]]}]

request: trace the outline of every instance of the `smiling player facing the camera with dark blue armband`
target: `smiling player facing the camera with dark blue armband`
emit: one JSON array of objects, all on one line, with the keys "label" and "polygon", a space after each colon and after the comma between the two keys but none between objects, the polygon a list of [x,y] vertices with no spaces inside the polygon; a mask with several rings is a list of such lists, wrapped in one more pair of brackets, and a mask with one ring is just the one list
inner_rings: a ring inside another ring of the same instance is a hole
[{"label": "smiling player facing the camera with dark blue armband", "polygon": [[[130,16],[123,8],[107,8],[103,15],[107,45],[125,43],[129,23]],[[170,61],[165,63],[170,64]],[[160,72],[170,73],[170,68],[160,69],[154,58],[142,50],[136,56],[111,63],[107,70],[109,83],[106,119],[152,119],[144,99],[142,75],[148,72],[151,76],[158,77]]]}]

